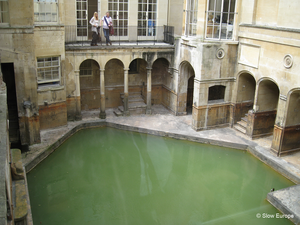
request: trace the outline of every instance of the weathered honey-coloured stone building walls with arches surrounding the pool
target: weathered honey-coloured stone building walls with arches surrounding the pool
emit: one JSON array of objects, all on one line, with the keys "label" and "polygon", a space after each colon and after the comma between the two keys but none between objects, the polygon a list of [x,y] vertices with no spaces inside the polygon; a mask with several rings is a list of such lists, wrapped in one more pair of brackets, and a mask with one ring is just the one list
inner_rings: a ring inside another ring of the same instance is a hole
[{"label": "weathered honey-coloured stone building walls with arches surrounding the pool", "polygon": [[[177,116],[190,106],[196,131],[229,126],[251,139],[274,134],[278,155],[299,150],[299,3],[3,2],[2,80],[16,90],[12,142],[38,143],[40,130],[80,120],[81,110],[100,108],[104,119],[105,108],[123,106],[129,116],[128,93],[141,93],[148,114],[151,104]],[[175,44],[67,45],[65,27],[89,25],[94,11],[109,11],[114,26],[173,26]]]}]

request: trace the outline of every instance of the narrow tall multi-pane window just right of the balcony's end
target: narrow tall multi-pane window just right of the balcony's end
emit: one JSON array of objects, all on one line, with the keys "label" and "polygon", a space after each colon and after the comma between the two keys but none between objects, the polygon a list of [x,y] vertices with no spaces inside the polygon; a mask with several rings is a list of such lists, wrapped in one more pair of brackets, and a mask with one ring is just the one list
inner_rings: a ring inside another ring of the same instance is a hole
[{"label": "narrow tall multi-pane window just right of the balcony's end", "polygon": [[186,6],[184,36],[196,38],[197,31],[197,0],[188,0]]}]

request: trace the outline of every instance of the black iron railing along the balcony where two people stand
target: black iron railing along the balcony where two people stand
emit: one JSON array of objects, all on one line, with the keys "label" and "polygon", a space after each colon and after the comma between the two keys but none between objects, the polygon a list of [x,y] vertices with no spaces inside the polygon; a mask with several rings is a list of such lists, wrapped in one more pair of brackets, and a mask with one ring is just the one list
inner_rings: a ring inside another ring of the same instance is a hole
[{"label": "black iron railing along the balcony where two people stand", "polygon": [[[101,41],[98,45],[106,45],[106,39],[102,27],[100,29]],[[114,45],[121,44],[174,44],[173,26],[114,26],[114,35],[110,40]],[[91,26],[65,26],[65,44],[87,45],[91,44],[93,32]]]}]

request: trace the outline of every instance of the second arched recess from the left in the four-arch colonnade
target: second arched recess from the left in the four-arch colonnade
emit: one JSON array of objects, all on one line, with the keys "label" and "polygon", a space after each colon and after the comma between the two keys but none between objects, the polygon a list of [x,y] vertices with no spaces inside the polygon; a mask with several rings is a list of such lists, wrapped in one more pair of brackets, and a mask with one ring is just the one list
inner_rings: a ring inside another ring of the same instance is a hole
[{"label": "second arched recess from the left in the four-arch colonnade", "polygon": [[124,93],[124,64],[112,58],[104,66],[105,108],[122,106]]}]

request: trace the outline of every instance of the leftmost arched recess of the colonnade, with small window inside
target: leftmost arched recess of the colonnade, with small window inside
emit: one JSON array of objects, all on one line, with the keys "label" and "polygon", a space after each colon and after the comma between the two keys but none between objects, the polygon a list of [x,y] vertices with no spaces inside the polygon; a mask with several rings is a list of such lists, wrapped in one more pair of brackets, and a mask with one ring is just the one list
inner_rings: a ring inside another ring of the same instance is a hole
[{"label": "leftmost arched recess of the colonnade, with small window inside", "polygon": [[81,110],[100,108],[100,66],[94,59],[86,59],[79,66]]}]

